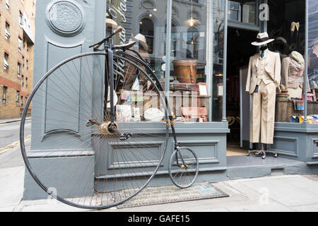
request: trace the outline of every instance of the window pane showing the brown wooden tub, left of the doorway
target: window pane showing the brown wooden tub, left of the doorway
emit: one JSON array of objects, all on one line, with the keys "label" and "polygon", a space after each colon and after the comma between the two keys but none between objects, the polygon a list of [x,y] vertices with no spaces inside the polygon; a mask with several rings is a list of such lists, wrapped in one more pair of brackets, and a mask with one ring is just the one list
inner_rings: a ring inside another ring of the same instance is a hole
[{"label": "window pane showing the brown wooden tub, left of the doorway", "polygon": [[[222,112],[222,98],[213,110],[211,107],[212,96],[216,93],[212,85],[213,69],[217,74],[223,74],[222,2],[189,4],[172,1],[172,12],[175,13],[172,13],[169,101],[178,122],[207,122],[222,118],[222,114],[218,116],[218,112]],[[214,54],[218,54],[214,66],[213,47],[216,48]],[[220,83],[216,88],[222,93]],[[213,117],[213,112],[217,112],[216,117]]]}]

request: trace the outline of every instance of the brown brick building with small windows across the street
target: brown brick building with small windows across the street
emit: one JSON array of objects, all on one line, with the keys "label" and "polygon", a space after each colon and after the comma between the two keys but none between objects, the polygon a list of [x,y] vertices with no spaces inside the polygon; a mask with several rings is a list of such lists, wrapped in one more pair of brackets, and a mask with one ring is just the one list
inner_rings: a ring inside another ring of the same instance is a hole
[{"label": "brown brick building with small windows across the street", "polygon": [[0,119],[21,116],[33,87],[35,0],[0,3]]}]

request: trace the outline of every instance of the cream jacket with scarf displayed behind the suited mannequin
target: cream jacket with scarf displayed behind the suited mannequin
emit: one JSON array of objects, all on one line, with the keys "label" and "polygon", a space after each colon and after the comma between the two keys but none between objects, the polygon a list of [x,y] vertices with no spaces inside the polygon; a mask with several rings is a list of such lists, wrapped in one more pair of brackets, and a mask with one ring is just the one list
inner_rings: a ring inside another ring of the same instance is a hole
[{"label": "cream jacket with scarf displayed behind the suited mannequin", "polygon": [[[303,88],[305,82],[299,82],[299,76],[304,75],[305,63],[299,64],[295,59],[286,57],[281,65],[282,83],[286,88]],[[307,87],[310,90],[309,81]]]}]

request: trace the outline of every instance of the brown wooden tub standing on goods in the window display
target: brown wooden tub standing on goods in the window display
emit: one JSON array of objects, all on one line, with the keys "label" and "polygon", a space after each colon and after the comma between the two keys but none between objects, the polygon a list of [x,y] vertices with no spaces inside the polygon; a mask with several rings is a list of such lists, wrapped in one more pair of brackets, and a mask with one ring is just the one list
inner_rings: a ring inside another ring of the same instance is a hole
[{"label": "brown wooden tub standing on goods in the window display", "polygon": [[196,61],[177,60],[173,61],[175,76],[180,83],[196,83]]}]

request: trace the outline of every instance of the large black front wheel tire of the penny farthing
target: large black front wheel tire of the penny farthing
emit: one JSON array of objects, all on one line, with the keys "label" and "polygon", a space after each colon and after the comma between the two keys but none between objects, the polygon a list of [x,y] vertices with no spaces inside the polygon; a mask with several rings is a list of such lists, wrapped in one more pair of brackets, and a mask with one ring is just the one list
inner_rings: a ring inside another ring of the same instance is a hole
[{"label": "large black front wheel tire of the penny farthing", "polygon": [[[160,156],[160,160],[158,162],[158,165],[156,167],[156,169],[153,171],[153,174],[151,175],[151,177],[149,177],[148,181],[143,185],[141,186],[141,188],[136,191],[133,195],[129,196],[129,198],[125,198],[123,201],[119,201],[117,203],[112,203],[110,205],[107,205],[107,206],[84,206],[84,205],[78,205],[78,204],[75,204],[75,203],[72,203],[70,201],[67,201],[66,199],[64,198],[61,198],[59,196],[56,196],[55,194],[53,193],[49,193],[48,192],[48,188],[47,186],[45,186],[44,184],[42,184],[42,182],[40,182],[40,179],[37,177],[37,175],[35,174],[35,172],[33,171],[33,168],[31,167],[30,165],[30,162],[28,161],[28,156],[27,156],[27,153],[25,152],[25,143],[24,143],[24,129],[25,129],[25,118],[26,118],[26,115],[28,114],[28,108],[30,107],[30,103],[32,102],[33,100],[33,97],[35,95],[35,93],[37,92],[37,90],[40,88],[40,85],[42,85],[42,83],[57,69],[59,69],[60,66],[68,63],[69,61],[72,61],[74,59],[78,59],[80,57],[87,57],[87,56],[92,56],[92,55],[104,55],[104,56],[107,56],[107,53],[105,52],[88,52],[88,53],[83,53],[83,54],[78,54],[78,55],[75,55],[73,57],[70,57],[69,59],[65,59],[64,61],[61,61],[59,64],[57,64],[56,66],[54,66],[52,69],[50,69],[47,73],[45,73],[44,76],[42,76],[42,78],[40,79],[40,81],[37,82],[37,85],[35,85],[35,87],[33,88],[33,91],[30,93],[30,96],[28,97],[28,100],[27,102],[25,103],[25,107],[23,109],[23,114],[22,114],[22,117],[21,117],[21,122],[20,122],[20,150],[21,150],[21,154],[22,154],[22,157],[23,157],[23,161],[25,162],[25,166],[27,167],[28,171],[30,172],[30,175],[31,177],[33,177],[33,179],[35,180],[35,182],[47,193],[49,194],[50,196],[52,196],[53,198],[57,199],[58,201],[60,201],[61,203],[65,203],[66,205],[69,205],[69,206],[73,206],[73,207],[76,207],[76,208],[83,208],[83,209],[95,209],[95,210],[101,210],[101,209],[105,209],[105,208],[112,208],[114,206],[118,206],[126,201],[129,201],[131,198],[134,198],[134,196],[136,196],[137,194],[139,194],[143,189],[146,188],[146,186],[151,182],[151,180],[153,179],[153,177],[155,177],[155,174],[157,174],[158,172],[158,169],[160,168],[160,165],[162,165],[162,162],[163,162],[163,158],[165,156],[165,152],[167,150],[167,141],[168,141],[168,138],[169,138],[169,129],[167,128],[166,129],[166,134],[165,134],[165,146],[163,148],[163,153],[161,154]],[[127,54],[129,55],[129,54]],[[114,53],[114,57],[117,57],[119,59],[123,59],[123,60],[126,60],[126,61],[129,61],[130,64],[135,64],[133,61],[131,61],[130,59],[127,59],[126,57],[122,57],[120,56],[119,54],[117,53]],[[136,57],[134,56],[128,56],[130,57],[131,59],[136,59],[138,60]],[[138,60],[139,63],[142,65],[142,66],[145,66],[146,69],[149,68],[148,65],[146,65],[144,62]],[[136,64],[135,64],[136,65]],[[137,66],[137,65],[136,65]],[[143,71],[143,69],[141,69],[141,71]],[[152,72],[152,71],[151,71]],[[162,90],[162,86],[159,84],[159,88],[157,86],[157,84],[154,83],[153,79],[148,76],[148,73],[146,73],[145,71],[143,71],[143,73],[149,78],[149,80],[153,83],[154,87],[157,89],[157,90],[160,90],[160,91],[163,91]],[[153,73],[153,72],[152,72]],[[153,73],[154,75],[154,73]],[[153,76],[152,75],[152,76]],[[155,76],[155,75],[154,75]],[[156,78],[156,76],[155,76]],[[158,81],[158,79],[157,79]],[[167,103],[167,98],[165,97],[165,103]],[[167,106],[165,105],[165,117],[169,117],[169,112],[168,112],[168,109],[167,109]]]}]

